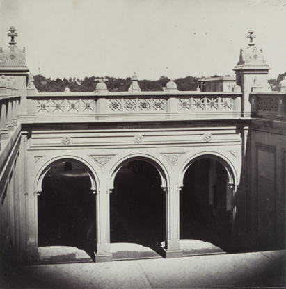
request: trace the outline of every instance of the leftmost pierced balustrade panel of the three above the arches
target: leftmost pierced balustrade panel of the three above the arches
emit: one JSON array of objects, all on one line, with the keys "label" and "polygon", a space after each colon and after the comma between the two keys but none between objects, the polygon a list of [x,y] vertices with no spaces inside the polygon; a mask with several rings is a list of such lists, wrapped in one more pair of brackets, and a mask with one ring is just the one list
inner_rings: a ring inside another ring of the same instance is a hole
[{"label": "leftmost pierced balustrade panel of the three above the arches", "polygon": [[93,114],[94,99],[35,99],[35,113],[45,114]]}]

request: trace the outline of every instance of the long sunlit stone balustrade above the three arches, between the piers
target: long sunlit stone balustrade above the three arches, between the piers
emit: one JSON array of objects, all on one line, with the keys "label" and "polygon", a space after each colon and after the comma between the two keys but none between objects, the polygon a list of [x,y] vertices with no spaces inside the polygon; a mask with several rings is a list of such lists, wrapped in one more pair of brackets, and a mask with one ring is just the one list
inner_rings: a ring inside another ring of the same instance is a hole
[{"label": "long sunlit stone balustrade above the three arches, between the piers", "polygon": [[27,96],[27,110],[37,122],[226,119],[241,116],[241,92],[38,93]]}]

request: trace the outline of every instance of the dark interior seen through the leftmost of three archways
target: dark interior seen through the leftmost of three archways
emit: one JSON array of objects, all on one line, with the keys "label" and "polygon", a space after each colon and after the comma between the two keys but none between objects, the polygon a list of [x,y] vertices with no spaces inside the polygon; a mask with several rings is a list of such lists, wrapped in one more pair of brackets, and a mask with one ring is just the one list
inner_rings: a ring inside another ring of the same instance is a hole
[{"label": "dark interior seen through the leftmost of three archways", "polygon": [[38,197],[38,246],[72,246],[86,251],[96,243],[95,195],[88,172],[74,161],[51,166]]}]

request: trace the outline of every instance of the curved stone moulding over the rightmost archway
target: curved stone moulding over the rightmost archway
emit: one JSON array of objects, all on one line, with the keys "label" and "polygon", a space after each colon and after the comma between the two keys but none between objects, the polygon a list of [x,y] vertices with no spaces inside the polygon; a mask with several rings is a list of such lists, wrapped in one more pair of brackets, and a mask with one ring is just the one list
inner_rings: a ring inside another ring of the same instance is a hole
[{"label": "curved stone moulding over the rightmost archway", "polygon": [[200,160],[202,158],[212,158],[214,160],[219,161],[225,167],[226,172],[228,173],[228,183],[232,185],[237,185],[238,183],[238,177],[237,177],[237,171],[235,170],[235,166],[232,164],[232,162],[223,156],[223,154],[216,153],[214,151],[203,151],[199,154],[193,155],[191,158],[186,160],[184,165],[182,165],[182,169],[180,171],[180,179],[178,181],[178,186],[183,186],[183,180],[184,180],[184,174],[186,173],[186,170],[196,162],[196,160]]}]

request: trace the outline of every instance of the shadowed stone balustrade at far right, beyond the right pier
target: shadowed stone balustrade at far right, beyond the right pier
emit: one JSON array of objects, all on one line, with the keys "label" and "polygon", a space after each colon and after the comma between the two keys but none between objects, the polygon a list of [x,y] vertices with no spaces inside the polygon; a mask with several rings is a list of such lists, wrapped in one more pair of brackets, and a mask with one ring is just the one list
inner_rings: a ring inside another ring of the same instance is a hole
[{"label": "shadowed stone balustrade at far right, beyond the right pier", "polygon": [[286,92],[252,92],[253,117],[286,120]]}]

